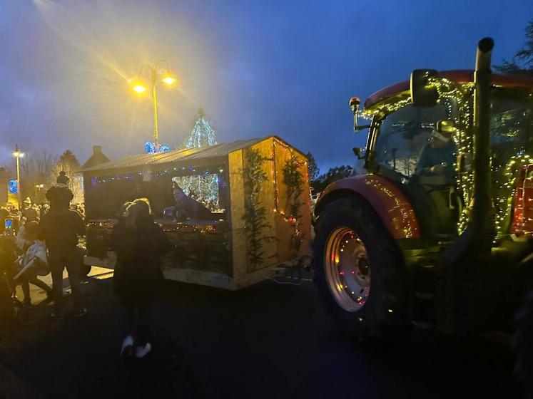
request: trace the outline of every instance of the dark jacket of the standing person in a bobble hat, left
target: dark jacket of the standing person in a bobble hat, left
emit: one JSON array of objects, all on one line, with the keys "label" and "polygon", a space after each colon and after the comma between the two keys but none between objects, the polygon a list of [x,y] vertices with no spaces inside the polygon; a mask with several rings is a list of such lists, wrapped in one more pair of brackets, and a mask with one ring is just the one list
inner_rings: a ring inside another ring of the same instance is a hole
[{"label": "dark jacket of the standing person in a bobble hat, left", "polygon": [[72,249],[78,245],[78,235],[85,234],[85,224],[77,212],[50,209],[41,220],[40,238],[50,251]]}]

